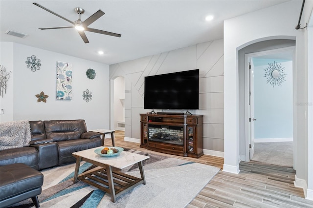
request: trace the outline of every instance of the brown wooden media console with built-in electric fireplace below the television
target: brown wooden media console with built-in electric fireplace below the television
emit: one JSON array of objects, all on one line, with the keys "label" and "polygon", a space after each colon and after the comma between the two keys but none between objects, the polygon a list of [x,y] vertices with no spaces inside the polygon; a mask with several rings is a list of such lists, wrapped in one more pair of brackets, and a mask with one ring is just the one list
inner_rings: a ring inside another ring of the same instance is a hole
[{"label": "brown wooden media console with built-in electric fireplace below the television", "polygon": [[203,155],[203,115],[140,114],[140,147],[179,156]]}]

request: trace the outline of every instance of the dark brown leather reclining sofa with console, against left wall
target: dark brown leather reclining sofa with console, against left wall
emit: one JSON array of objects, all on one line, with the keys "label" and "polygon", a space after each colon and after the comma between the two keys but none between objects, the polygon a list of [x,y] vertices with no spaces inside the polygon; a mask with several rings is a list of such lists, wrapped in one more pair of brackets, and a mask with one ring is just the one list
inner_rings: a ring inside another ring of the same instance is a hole
[{"label": "dark brown leather reclining sofa with console, against left wall", "polygon": [[30,121],[28,147],[0,151],[0,166],[23,163],[37,170],[75,162],[73,152],[101,146],[99,133],[88,132],[84,120]]}]

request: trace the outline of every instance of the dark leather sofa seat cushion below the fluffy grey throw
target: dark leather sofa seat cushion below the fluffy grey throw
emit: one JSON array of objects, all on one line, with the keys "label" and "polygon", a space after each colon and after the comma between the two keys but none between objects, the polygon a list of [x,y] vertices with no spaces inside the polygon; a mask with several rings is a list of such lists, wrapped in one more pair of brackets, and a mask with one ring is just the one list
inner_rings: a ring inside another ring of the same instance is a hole
[{"label": "dark leather sofa seat cushion below the fluffy grey throw", "polygon": [[23,163],[38,170],[38,151],[35,147],[12,148],[0,151],[0,166],[14,163]]}]

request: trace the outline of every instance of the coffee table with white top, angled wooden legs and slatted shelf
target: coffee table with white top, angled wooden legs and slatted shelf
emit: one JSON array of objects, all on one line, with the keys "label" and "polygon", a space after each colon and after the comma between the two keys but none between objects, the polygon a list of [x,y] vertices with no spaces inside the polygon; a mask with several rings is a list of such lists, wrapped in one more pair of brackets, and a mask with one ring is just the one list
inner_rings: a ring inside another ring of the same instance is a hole
[{"label": "coffee table with white top, angled wooden legs and slatted shelf", "polygon": [[[109,193],[112,202],[116,202],[116,197],[129,191],[131,188],[140,184],[146,184],[142,161],[148,159],[149,156],[122,151],[117,156],[102,157],[94,152],[97,148],[102,147],[73,152],[73,156],[76,158],[74,183],[81,180],[97,187]],[[98,167],[78,175],[81,161],[86,161]],[[134,164],[138,164],[141,178],[121,172],[123,168]]]}]

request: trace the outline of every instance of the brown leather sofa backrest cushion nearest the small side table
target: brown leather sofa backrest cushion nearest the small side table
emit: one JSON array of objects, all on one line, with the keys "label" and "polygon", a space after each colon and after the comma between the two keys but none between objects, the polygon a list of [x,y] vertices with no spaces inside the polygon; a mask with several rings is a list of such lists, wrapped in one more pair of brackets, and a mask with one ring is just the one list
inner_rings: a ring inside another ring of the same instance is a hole
[{"label": "brown leather sofa backrest cushion nearest the small side table", "polygon": [[84,120],[53,120],[44,123],[46,138],[56,142],[79,139],[87,131]]}]

